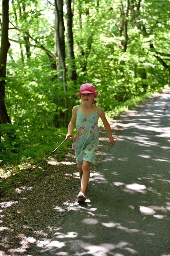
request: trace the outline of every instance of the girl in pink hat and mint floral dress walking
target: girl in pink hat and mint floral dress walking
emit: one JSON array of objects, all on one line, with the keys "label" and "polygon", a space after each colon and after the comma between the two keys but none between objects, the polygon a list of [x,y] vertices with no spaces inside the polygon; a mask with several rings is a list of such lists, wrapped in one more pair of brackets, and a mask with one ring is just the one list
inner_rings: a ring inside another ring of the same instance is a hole
[{"label": "girl in pink hat and mint floral dress walking", "polygon": [[90,83],[80,86],[80,93],[77,96],[81,98],[82,104],[74,106],[72,109],[71,121],[68,125],[67,140],[72,140],[72,132],[76,121],[76,131],[72,144],[75,150],[77,166],[80,172],[81,190],[77,196],[77,201],[85,201],[85,191],[90,177],[90,163],[95,163],[96,151],[99,144],[98,119],[102,119],[104,128],[111,144],[115,142],[112,137],[111,126],[109,125],[102,108],[97,107],[95,97],[95,87]]}]

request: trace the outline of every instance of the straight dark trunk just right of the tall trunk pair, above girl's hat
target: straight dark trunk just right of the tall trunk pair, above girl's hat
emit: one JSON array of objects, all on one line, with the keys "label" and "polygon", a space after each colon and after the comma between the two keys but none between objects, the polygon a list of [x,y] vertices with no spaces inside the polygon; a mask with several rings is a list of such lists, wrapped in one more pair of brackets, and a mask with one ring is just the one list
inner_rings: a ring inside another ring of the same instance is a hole
[{"label": "straight dark trunk just right of the tall trunk pair, above girl's hat", "polygon": [[71,81],[77,80],[77,73],[75,69],[75,57],[73,48],[73,31],[72,31],[72,11],[71,11],[71,0],[66,0],[67,6],[67,52],[69,60],[69,78]]}]

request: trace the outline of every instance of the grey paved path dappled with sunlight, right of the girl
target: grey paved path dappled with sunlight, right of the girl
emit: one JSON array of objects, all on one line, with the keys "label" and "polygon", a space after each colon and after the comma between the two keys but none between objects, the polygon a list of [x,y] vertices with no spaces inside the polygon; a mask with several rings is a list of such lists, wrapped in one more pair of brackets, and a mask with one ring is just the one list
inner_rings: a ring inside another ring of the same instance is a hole
[{"label": "grey paved path dappled with sunlight, right of the girl", "polygon": [[170,94],[140,112],[43,256],[170,256]]}]

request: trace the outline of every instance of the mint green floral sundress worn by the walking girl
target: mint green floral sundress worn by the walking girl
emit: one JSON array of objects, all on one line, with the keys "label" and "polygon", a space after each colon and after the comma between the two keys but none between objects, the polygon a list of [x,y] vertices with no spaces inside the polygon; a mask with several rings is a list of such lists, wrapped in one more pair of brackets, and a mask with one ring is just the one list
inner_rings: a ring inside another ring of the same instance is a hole
[{"label": "mint green floral sundress worn by the walking girl", "polygon": [[94,113],[85,116],[80,112],[78,106],[76,130],[72,144],[78,164],[82,164],[83,160],[96,163],[96,151],[99,145],[99,116],[97,110],[98,107]]}]

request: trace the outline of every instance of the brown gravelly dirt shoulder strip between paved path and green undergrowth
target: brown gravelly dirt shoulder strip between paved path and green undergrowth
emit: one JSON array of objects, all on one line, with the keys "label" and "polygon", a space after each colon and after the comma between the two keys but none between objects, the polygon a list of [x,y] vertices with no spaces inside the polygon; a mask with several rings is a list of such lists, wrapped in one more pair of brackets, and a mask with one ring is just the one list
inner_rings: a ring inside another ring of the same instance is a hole
[{"label": "brown gravelly dirt shoulder strip between paved path and green undergrowth", "polygon": [[[163,93],[170,93],[164,90]],[[135,106],[110,122],[114,139],[126,125],[162,94],[155,94],[146,102]],[[91,165],[94,173],[109,147],[105,130],[100,128],[100,145],[97,164]],[[66,154],[63,161],[53,159],[43,164],[45,175],[15,189],[10,197],[0,201],[0,256],[39,256],[43,247],[50,242],[56,230],[60,229],[69,204],[73,204],[80,189],[79,172],[74,152]]]}]

